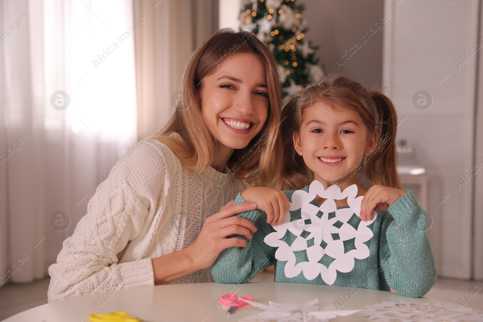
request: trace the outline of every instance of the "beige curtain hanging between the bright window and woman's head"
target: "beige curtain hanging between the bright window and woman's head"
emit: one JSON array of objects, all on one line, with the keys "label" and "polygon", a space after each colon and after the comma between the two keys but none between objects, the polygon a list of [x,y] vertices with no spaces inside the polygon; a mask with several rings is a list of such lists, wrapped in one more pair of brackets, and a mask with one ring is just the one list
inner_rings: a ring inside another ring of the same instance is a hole
[{"label": "beige curtain hanging between the bright window and woman's head", "polygon": [[139,135],[156,133],[176,102],[186,59],[218,30],[219,0],[134,0],[150,18],[135,33]]}]

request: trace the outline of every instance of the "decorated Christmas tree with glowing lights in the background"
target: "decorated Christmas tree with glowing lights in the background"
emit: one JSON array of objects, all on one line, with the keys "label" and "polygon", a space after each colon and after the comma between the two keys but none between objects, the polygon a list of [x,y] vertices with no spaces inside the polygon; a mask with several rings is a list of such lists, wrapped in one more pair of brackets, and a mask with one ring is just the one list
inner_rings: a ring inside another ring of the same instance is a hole
[{"label": "decorated Christmas tree with glowing lights in the background", "polygon": [[279,63],[283,100],[298,95],[312,80],[324,77],[314,53],[318,48],[304,41],[307,20],[303,4],[295,0],[245,0],[240,14],[241,30],[250,31],[263,42]]}]

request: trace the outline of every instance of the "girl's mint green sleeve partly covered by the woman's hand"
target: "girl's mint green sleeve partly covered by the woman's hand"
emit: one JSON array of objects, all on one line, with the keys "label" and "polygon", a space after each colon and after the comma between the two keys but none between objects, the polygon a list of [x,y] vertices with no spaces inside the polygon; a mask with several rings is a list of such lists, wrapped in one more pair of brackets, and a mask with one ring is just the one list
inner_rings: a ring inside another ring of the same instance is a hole
[{"label": "girl's mint green sleeve partly covered by the woman's hand", "polygon": [[[246,202],[239,193],[234,205]],[[275,231],[267,224],[267,214],[262,210],[251,210],[237,214],[242,218],[251,220],[257,230],[248,240],[241,235],[228,238],[241,238],[246,240],[246,247],[230,247],[220,253],[211,266],[213,279],[218,283],[244,283],[252,280],[255,275],[275,262],[275,247],[265,244],[265,236]]]}]

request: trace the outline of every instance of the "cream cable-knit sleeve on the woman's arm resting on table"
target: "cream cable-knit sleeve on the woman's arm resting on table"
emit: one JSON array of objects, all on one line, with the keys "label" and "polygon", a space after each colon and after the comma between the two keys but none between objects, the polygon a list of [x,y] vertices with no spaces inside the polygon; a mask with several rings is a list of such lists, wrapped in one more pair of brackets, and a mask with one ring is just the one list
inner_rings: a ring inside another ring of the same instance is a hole
[{"label": "cream cable-knit sleeve on the woman's arm resting on table", "polygon": [[134,261],[119,260],[128,243],[141,236],[145,222],[153,219],[154,199],[168,194],[166,181],[174,171],[170,161],[166,147],[145,142],[142,151],[114,165],[74,233],[64,240],[57,263],[49,267],[49,302],[154,285],[152,262],[145,254]]}]

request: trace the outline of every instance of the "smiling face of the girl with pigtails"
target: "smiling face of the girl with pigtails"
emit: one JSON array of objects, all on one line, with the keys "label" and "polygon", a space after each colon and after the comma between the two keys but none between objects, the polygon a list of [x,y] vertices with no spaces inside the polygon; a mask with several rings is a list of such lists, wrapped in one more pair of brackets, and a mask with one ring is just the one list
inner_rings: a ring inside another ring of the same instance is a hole
[{"label": "smiling face of the girl with pigtails", "polygon": [[300,131],[294,134],[297,153],[326,189],[332,184],[358,183],[355,169],[376,142],[377,132],[369,133],[359,113],[325,103],[313,103],[305,110]]}]

